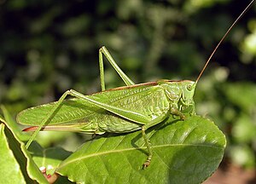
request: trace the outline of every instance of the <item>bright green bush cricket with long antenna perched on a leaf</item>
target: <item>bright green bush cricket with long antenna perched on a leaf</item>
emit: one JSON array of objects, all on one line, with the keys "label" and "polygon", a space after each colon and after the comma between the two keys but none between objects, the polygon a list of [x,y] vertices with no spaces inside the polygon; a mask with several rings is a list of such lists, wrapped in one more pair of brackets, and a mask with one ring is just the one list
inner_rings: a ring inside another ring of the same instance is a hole
[{"label": "bright green bush cricket with long antenna perched on a leaf", "polygon": [[[224,37],[253,2],[254,0],[242,11],[224,34]],[[218,42],[212,55],[223,42],[224,37]],[[103,55],[118,72],[126,86],[105,89]],[[190,80],[158,80],[135,84],[119,68],[108,49],[102,47],[99,49],[102,91],[92,95],[83,95],[70,89],[61,95],[59,101],[34,106],[20,112],[17,116],[17,122],[32,125],[25,131],[35,131],[26,143],[26,147],[30,146],[40,130],[67,130],[101,135],[105,132],[129,133],[141,129],[145,146],[148,149],[148,158],[143,164],[143,168],[146,168],[150,164],[153,152],[145,130],[155,124],[160,124],[170,115],[175,115],[183,120],[185,118],[184,113],[195,114],[195,102],[193,100],[195,87],[212,59],[212,55],[210,55],[195,82]],[[66,100],[67,95],[74,98]]]}]

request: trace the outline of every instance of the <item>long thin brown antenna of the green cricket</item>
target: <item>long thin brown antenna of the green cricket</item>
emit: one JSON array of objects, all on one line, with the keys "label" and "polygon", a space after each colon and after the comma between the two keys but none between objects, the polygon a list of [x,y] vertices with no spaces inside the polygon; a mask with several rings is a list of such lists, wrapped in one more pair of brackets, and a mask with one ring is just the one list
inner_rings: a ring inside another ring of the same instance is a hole
[{"label": "long thin brown antenna of the green cricket", "polygon": [[215,52],[216,52],[216,50],[218,49],[218,46],[220,45],[220,43],[222,43],[222,42],[224,41],[224,38],[229,34],[229,32],[230,32],[230,30],[233,28],[233,26],[236,25],[236,22],[241,19],[242,15],[246,13],[247,9],[249,9],[249,8],[251,7],[251,5],[253,4],[254,1],[255,1],[255,0],[251,1],[251,3],[249,3],[249,4],[247,5],[247,8],[245,8],[245,9],[241,12],[241,14],[240,14],[240,15],[236,18],[236,20],[234,21],[234,23],[230,26],[230,28],[228,29],[228,31],[224,34],[224,36],[223,36],[223,37],[221,38],[221,40],[218,42],[218,45],[215,47],[215,49],[213,49],[212,55],[210,55],[210,57],[208,58],[206,65],[205,65],[205,66],[203,67],[203,69],[201,70],[201,72],[200,72],[198,78],[196,79],[195,83],[197,83],[198,80],[201,78],[201,75],[202,75],[203,72],[206,70],[207,65],[208,65],[208,63],[210,62],[210,60],[212,60],[212,56],[215,54]]}]

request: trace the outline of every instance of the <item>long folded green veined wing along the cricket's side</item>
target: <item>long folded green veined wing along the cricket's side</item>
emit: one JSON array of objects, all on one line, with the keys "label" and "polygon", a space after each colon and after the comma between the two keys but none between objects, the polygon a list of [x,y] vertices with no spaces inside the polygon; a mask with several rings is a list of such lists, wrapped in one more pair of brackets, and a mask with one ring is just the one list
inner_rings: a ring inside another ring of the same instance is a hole
[{"label": "long folded green veined wing along the cricket's side", "polygon": [[[152,83],[111,89],[87,97],[125,110],[139,112],[152,119],[159,118],[159,121],[166,118],[169,111],[165,91]],[[26,109],[18,114],[17,122],[37,126],[55,103]],[[63,101],[47,125],[72,125],[83,131],[88,124],[90,129],[109,132],[129,132],[142,126],[78,98]]]}]

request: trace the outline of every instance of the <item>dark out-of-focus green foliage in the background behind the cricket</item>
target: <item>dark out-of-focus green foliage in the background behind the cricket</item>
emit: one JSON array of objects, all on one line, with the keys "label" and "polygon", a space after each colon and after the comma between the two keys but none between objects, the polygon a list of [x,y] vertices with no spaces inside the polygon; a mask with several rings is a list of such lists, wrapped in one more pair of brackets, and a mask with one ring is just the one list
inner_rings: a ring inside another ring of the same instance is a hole
[{"label": "dark out-of-focus green foliage in the background behind the cricket", "polygon": [[[102,45],[137,83],[195,80],[247,3],[0,1],[0,103],[15,115],[67,89],[99,91]],[[255,15],[254,4],[214,55],[195,94],[197,112],[227,135],[227,157],[246,167],[256,166]],[[107,88],[124,85],[106,66]]]}]

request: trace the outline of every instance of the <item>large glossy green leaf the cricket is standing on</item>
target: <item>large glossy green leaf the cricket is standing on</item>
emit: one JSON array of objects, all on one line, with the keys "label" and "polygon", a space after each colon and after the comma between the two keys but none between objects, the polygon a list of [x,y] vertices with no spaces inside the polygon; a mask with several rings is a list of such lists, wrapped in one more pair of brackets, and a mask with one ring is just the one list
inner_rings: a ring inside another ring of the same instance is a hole
[{"label": "large glossy green leaf the cricket is standing on", "polygon": [[85,142],[56,170],[85,183],[200,183],[224,156],[224,134],[207,118],[169,118],[148,129],[153,158],[142,169],[147,150],[140,131],[109,134]]}]

